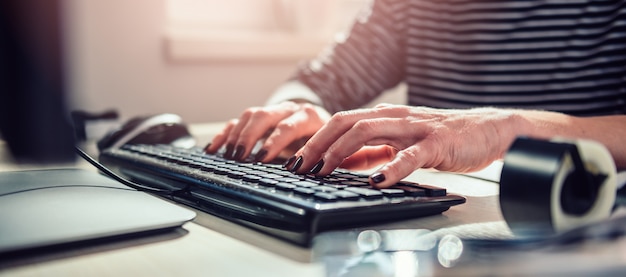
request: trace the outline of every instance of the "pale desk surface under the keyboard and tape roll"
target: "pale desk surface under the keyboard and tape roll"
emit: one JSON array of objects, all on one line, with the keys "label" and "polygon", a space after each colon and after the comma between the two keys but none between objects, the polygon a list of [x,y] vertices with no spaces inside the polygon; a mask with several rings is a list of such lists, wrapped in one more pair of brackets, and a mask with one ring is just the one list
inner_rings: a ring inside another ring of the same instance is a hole
[{"label": "pale desk surface under the keyboard and tape roll", "polygon": [[[194,125],[200,145],[208,142],[221,124]],[[0,170],[29,169],[11,164],[4,147],[0,149]],[[86,162],[77,165],[91,168]],[[498,185],[484,178],[496,178],[496,163],[473,177],[417,171],[409,180],[446,187],[450,192],[465,195],[467,203],[452,207],[441,215],[370,226],[371,230],[427,229],[446,231],[463,237],[502,238],[510,232],[502,220],[498,203]],[[95,170],[95,169],[94,169]],[[105,245],[24,257],[9,263],[0,261],[0,276],[413,276],[419,272],[431,276],[458,275],[545,275],[575,272],[588,275],[626,269],[626,239],[593,241],[542,251],[507,251],[472,253],[473,261],[445,268],[426,257],[378,253],[368,256],[320,257],[314,249],[285,243],[251,229],[196,211],[198,217],[172,234],[124,240]],[[349,247],[352,235],[361,230],[346,230],[318,237],[323,243]],[[338,239],[339,238],[339,239]],[[347,238],[347,239],[346,239]],[[409,253],[410,254],[410,253]],[[506,255],[502,255],[506,254]],[[406,259],[412,262],[406,263]],[[417,259],[420,259],[420,263]],[[401,262],[405,261],[405,262]],[[417,270],[417,265],[420,265]],[[362,265],[361,268],[356,265]],[[394,273],[394,267],[400,271]],[[358,271],[361,270],[361,271]],[[365,270],[365,271],[363,271]],[[413,271],[411,271],[413,270]],[[417,271],[415,271],[417,270]]]}]

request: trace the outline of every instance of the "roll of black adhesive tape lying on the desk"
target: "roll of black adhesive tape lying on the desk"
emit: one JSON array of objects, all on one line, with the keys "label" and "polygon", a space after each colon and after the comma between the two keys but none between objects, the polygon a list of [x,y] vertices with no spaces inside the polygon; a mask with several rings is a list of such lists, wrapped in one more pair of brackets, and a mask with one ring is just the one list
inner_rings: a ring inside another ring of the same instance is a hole
[{"label": "roll of black adhesive tape lying on the desk", "polygon": [[616,170],[608,150],[588,140],[520,137],[500,176],[500,209],[516,236],[549,236],[608,218]]}]

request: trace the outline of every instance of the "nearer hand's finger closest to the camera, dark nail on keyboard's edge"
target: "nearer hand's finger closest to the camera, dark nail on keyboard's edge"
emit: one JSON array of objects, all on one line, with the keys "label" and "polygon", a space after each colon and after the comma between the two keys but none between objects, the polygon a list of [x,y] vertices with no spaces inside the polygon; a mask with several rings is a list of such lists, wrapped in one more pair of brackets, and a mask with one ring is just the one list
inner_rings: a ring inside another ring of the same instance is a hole
[{"label": "nearer hand's finger closest to the camera, dark nail on keyboard's edge", "polygon": [[375,188],[388,188],[423,167],[428,153],[414,146],[399,151],[395,158],[370,175],[370,184]]}]

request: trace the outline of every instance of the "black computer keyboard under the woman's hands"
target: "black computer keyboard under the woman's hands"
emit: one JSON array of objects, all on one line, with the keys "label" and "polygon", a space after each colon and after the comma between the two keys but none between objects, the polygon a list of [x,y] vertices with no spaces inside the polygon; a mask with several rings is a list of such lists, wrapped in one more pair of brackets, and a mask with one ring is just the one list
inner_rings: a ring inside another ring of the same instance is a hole
[{"label": "black computer keyboard under the woman's hands", "polygon": [[176,202],[303,246],[323,231],[439,214],[465,202],[440,187],[402,181],[379,190],[355,172],[296,175],[197,147],[125,145],[103,151],[100,162],[136,183],[172,191]]}]

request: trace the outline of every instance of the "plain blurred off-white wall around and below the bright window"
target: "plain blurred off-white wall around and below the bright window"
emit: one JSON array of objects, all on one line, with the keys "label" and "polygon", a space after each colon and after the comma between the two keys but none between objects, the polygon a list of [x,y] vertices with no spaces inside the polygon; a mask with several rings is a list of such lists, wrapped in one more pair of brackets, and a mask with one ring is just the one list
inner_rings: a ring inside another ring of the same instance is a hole
[{"label": "plain blurred off-white wall around and below the bright window", "polygon": [[67,0],[75,108],[115,108],[123,119],[171,112],[189,123],[223,121],[262,105],[298,63],[168,61],[165,1]]}]

